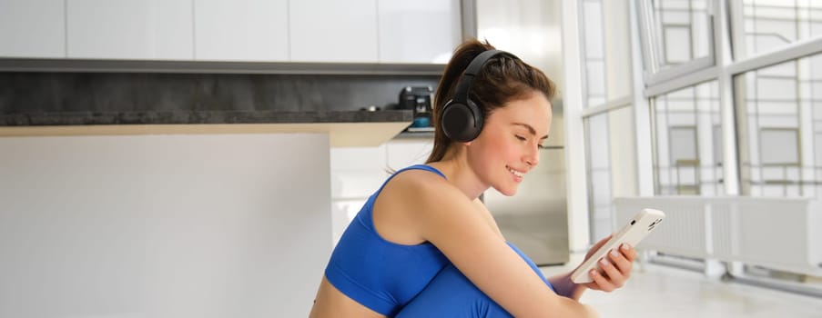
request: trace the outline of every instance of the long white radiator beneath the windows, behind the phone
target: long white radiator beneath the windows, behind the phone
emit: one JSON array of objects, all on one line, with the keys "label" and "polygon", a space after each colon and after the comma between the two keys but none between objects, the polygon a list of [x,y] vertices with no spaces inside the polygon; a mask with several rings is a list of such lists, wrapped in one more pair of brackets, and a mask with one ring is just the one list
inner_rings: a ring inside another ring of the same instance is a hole
[{"label": "long white radiator beneath the windows, behind the phone", "polygon": [[614,229],[643,208],[665,222],[637,248],[822,275],[822,204],[811,199],[665,196],[614,199]]}]

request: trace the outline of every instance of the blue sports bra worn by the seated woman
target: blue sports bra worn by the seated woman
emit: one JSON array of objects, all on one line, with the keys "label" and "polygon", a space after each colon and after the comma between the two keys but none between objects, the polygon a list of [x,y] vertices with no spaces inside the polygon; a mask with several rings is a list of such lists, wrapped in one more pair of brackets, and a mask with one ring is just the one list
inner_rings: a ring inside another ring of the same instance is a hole
[{"label": "blue sports bra worn by the seated woman", "polygon": [[383,239],[374,229],[374,201],[395,175],[411,169],[440,171],[417,164],[392,174],[360,209],[340,237],[325,270],[329,283],[357,303],[387,316],[420,293],[448,263],[431,243],[403,245]]}]

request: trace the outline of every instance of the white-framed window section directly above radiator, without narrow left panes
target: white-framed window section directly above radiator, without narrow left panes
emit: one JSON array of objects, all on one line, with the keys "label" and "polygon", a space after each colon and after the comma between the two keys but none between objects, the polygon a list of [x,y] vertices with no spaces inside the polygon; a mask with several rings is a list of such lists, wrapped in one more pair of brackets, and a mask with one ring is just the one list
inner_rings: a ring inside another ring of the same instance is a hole
[{"label": "white-framed window section directly above radiator, without narrow left panes", "polygon": [[822,198],[822,1],[636,4],[655,194]]}]

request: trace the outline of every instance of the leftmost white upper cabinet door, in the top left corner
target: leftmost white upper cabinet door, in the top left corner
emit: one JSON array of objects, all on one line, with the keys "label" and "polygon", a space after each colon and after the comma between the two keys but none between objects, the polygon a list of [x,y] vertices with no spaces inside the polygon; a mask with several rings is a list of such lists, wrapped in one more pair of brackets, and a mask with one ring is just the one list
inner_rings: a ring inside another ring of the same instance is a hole
[{"label": "leftmost white upper cabinet door, in the top left corner", "polygon": [[65,57],[64,0],[0,0],[0,56]]}]

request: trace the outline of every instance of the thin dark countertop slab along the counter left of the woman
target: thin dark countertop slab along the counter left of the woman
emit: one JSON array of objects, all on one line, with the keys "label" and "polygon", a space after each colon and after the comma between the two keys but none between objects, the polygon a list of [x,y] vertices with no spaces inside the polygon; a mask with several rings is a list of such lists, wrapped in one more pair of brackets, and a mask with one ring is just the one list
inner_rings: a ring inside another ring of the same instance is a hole
[{"label": "thin dark countertop slab along the counter left of the woman", "polygon": [[168,111],[0,114],[0,126],[93,124],[329,124],[411,122],[410,110]]}]

